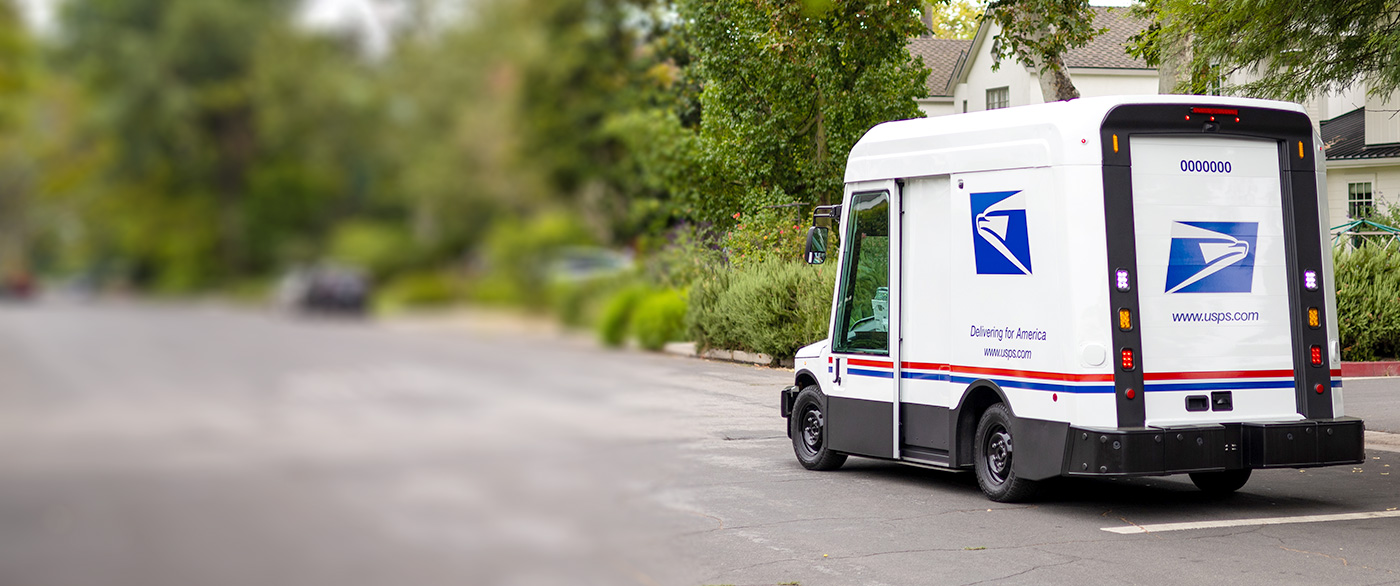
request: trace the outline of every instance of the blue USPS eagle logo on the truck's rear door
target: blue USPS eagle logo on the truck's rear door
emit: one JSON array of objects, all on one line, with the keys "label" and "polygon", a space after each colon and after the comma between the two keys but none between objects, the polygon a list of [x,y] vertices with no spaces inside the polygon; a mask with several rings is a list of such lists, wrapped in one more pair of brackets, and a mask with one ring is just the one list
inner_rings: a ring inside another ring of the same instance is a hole
[{"label": "blue USPS eagle logo on the truck's rear door", "polygon": [[1166,292],[1250,292],[1259,222],[1173,222]]}]

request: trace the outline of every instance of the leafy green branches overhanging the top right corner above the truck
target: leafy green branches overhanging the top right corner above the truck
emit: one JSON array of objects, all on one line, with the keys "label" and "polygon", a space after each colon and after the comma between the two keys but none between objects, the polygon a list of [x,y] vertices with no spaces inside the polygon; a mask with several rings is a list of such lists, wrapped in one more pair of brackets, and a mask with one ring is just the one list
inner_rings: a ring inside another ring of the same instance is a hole
[{"label": "leafy green branches overhanging the top right corner above the truck", "polygon": [[1393,1],[1148,0],[1154,18],[1134,50],[1149,63],[1182,62],[1176,91],[1246,71],[1226,92],[1303,101],[1365,83],[1400,88],[1400,27]]}]

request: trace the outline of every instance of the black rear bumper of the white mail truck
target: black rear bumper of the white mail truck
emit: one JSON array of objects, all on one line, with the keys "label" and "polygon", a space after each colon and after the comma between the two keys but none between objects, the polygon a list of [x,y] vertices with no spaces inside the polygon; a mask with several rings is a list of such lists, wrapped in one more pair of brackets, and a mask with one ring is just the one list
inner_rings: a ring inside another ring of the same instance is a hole
[{"label": "black rear bumper of the white mail truck", "polygon": [[1063,473],[1163,476],[1355,464],[1362,460],[1365,422],[1354,417],[1131,429],[1071,427]]}]

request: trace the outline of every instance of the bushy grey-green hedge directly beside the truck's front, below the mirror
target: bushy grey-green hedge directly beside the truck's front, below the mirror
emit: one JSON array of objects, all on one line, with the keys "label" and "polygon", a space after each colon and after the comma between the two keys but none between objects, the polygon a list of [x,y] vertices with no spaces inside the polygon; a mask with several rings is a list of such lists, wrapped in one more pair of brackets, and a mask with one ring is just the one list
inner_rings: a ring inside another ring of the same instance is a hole
[{"label": "bushy grey-green hedge directly beside the truck's front, below the mirror", "polygon": [[826,337],[833,264],[769,260],[715,273],[690,294],[690,334],[701,348],[790,358]]}]

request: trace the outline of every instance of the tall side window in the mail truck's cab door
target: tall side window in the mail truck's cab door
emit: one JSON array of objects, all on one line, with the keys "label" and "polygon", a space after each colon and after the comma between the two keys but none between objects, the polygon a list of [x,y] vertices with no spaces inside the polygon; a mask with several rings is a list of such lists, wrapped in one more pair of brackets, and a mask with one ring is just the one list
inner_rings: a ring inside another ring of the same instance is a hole
[{"label": "tall side window in the mail truck's cab door", "polygon": [[834,351],[889,354],[889,194],[857,193],[846,227]]}]

